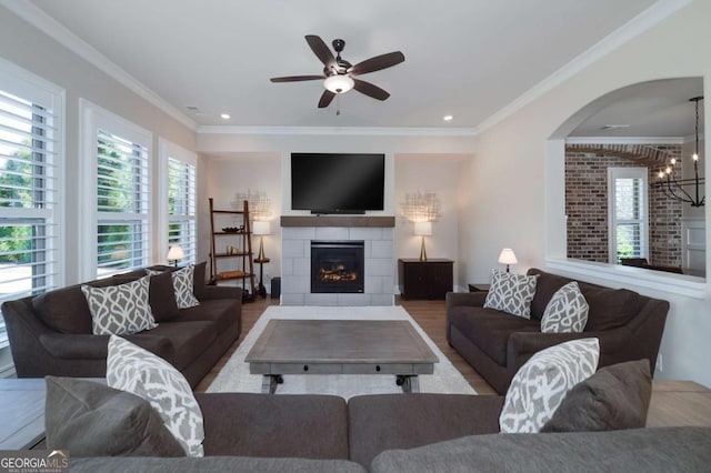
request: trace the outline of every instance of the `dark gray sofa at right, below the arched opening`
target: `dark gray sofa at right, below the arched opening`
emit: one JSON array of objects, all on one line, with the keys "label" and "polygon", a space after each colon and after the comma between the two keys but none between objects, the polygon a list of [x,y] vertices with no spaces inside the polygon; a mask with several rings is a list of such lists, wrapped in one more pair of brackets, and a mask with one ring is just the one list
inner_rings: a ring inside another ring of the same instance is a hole
[{"label": "dark gray sofa at right, below the arched opening", "polygon": [[531,319],[484,309],[484,292],[447,294],[447,341],[493,389],[507,392],[517,371],[537,352],[559,343],[594,336],[599,366],[647,359],[653,372],[669,302],[625,289],[578,282],[590,306],[582,333],[541,333],[545,305],[555,291],[573,281],[538,269]]}]

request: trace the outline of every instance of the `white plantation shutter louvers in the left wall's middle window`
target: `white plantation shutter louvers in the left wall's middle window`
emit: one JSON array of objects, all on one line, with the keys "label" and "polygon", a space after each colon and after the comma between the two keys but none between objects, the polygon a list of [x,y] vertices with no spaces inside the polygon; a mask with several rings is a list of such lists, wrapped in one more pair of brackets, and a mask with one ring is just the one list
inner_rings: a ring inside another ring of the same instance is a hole
[{"label": "white plantation shutter louvers in the left wall's middle window", "polygon": [[97,266],[103,278],[149,263],[148,148],[104,129],[97,133]]}]

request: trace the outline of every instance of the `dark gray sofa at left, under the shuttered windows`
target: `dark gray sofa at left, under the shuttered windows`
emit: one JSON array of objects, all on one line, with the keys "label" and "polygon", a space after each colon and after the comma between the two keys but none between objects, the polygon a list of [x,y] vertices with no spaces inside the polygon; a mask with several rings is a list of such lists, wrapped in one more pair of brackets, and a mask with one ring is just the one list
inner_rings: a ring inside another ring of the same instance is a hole
[{"label": "dark gray sofa at left, under the shuttered windows", "polygon": [[[126,339],[170,362],[194,388],[240,335],[242,291],[207,285],[206,263],[200,263],[193,274],[200,305],[179,310],[173,302],[171,309],[167,301],[173,300],[172,292],[166,291],[172,291],[167,273],[172,268],[151,269],[166,271],[152,278],[150,286],[151,309],[166,319],[156,329]],[[116,285],[143,275],[146,271],[139,270],[88,284]],[[91,313],[80,288],[76,284],[2,304],[18,378],[106,376],[109,335],[92,334]]]}]

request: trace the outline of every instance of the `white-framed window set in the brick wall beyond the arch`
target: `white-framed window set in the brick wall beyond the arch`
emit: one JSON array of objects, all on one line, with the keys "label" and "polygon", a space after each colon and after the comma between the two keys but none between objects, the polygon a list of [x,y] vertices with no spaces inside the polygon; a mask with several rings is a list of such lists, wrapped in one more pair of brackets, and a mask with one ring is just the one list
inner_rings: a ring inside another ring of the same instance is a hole
[{"label": "white-framed window set in the brick wall beyond the arch", "polygon": [[648,258],[647,168],[609,168],[610,262]]}]

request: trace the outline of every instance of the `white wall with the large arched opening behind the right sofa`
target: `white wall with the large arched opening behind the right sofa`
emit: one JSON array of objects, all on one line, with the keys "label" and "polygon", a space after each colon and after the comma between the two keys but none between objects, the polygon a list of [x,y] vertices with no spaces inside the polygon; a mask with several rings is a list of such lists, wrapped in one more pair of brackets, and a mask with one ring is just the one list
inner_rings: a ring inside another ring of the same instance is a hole
[{"label": "white wall with the large arched opening behind the right sofa", "polygon": [[[569,264],[555,260],[564,251],[562,141],[559,130],[594,99],[632,83],[675,77],[703,77],[711,97],[711,2],[697,0],[627,44],[607,54],[479,135],[477,157],[462,177],[475,202],[462,212],[465,276],[483,279],[507,241],[519,256],[514,268],[543,266],[607,285],[628,286],[671,302],[661,353],[661,379],[693,380],[711,386],[711,290],[708,282],[684,276],[625,276],[609,266]],[[704,101],[705,117],[711,107]],[[711,130],[707,120],[705,133]],[[558,133],[558,134],[555,134]],[[704,153],[708,155],[709,153]],[[709,169],[707,167],[707,179]],[[707,228],[711,211],[703,210]],[[709,246],[707,232],[707,246]],[[709,274],[707,261],[707,274]],[[653,279],[653,281],[648,281]],[[687,295],[683,295],[687,294]],[[633,343],[633,341],[631,341]]]}]

